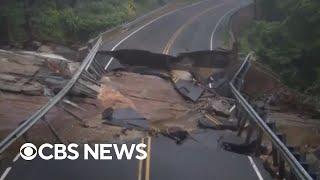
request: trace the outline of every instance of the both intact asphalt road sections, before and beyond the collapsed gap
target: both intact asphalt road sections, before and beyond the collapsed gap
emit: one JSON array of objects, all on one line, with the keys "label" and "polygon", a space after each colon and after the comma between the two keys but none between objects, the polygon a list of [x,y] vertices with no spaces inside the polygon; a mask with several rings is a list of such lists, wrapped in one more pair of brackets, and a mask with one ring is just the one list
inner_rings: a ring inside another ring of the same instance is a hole
[{"label": "both intact asphalt road sections, before and beyond the collapsed gap", "polygon": [[[240,3],[240,0],[205,0],[194,3],[124,32],[119,38],[103,44],[101,49],[140,49],[170,55],[210,50],[215,46],[212,45],[212,33],[217,23]],[[259,159],[220,149],[217,139],[221,133],[210,131],[194,134],[193,139],[188,139],[182,145],[165,137],[147,138],[145,141],[150,145],[150,154],[143,162],[25,161],[17,156],[0,180],[271,179]]]}]

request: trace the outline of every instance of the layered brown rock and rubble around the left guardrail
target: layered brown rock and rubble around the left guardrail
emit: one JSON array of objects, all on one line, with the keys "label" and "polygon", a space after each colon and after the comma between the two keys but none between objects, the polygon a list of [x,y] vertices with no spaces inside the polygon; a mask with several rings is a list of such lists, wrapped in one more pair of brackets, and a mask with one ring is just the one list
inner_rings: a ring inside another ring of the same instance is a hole
[{"label": "layered brown rock and rubble around the left guardrail", "polygon": [[[44,52],[0,50],[0,64],[0,134],[3,137],[55,96],[80,63]],[[85,114],[92,115],[97,107],[91,108],[86,97],[94,98],[99,89],[98,85],[80,79],[59,106],[48,113],[48,122],[52,120],[55,128],[63,130],[67,124],[76,124],[78,119],[87,117]],[[80,117],[74,115],[79,109]],[[77,121],[64,121],[70,117],[76,117]],[[47,124],[41,121],[34,126],[43,139],[51,138]]]}]

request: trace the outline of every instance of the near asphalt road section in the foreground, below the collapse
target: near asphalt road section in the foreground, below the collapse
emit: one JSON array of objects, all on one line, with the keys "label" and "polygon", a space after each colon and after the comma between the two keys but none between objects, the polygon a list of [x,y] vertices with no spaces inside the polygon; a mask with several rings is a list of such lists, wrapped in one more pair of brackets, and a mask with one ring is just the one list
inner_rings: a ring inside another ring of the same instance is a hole
[{"label": "near asphalt road section in the foreground, below the collapse", "polygon": [[[261,160],[224,151],[219,131],[200,131],[180,145],[159,136],[145,138],[148,158],[138,160],[41,160],[15,158],[8,180],[268,180]],[[139,143],[136,140],[131,143]],[[127,143],[130,145],[131,143]],[[80,155],[83,157],[83,155]],[[113,154],[113,157],[115,155]]]}]

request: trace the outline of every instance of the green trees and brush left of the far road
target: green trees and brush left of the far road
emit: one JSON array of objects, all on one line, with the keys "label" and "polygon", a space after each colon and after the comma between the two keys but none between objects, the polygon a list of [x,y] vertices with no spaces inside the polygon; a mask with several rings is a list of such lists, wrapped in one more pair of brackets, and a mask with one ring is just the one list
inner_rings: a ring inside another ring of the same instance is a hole
[{"label": "green trees and brush left of the far road", "polygon": [[75,44],[170,0],[2,0],[0,45]]}]

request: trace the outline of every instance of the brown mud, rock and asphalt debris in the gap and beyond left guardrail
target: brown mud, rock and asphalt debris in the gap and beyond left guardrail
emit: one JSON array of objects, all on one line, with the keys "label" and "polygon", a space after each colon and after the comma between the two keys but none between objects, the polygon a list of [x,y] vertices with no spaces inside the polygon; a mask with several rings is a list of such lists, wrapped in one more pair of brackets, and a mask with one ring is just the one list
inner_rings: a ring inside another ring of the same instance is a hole
[{"label": "brown mud, rock and asphalt debris in the gap and beyond left guardrail", "polygon": [[[11,68],[0,67],[0,90],[12,94],[50,98],[79,67],[79,63],[43,57],[43,54],[37,58],[40,55],[0,53],[1,63]],[[172,57],[140,50],[99,52],[88,74],[83,74],[64,103],[54,108],[48,117],[54,120],[56,134],[69,141],[114,138],[132,130],[130,132],[161,133],[179,144],[199,127],[232,129],[232,123],[226,124],[233,102],[220,96],[215,85],[215,80],[227,81],[231,74],[223,72],[232,60],[230,54],[203,51]],[[110,57],[114,59],[109,63]],[[108,63],[109,68],[104,70],[102,67]],[[90,72],[99,66],[97,74]],[[102,78],[97,79],[95,75]],[[29,101],[24,99],[26,97],[18,98],[13,104]],[[47,101],[48,98],[42,100],[15,119],[21,122]],[[66,120],[70,118],[76,121]]]}]

